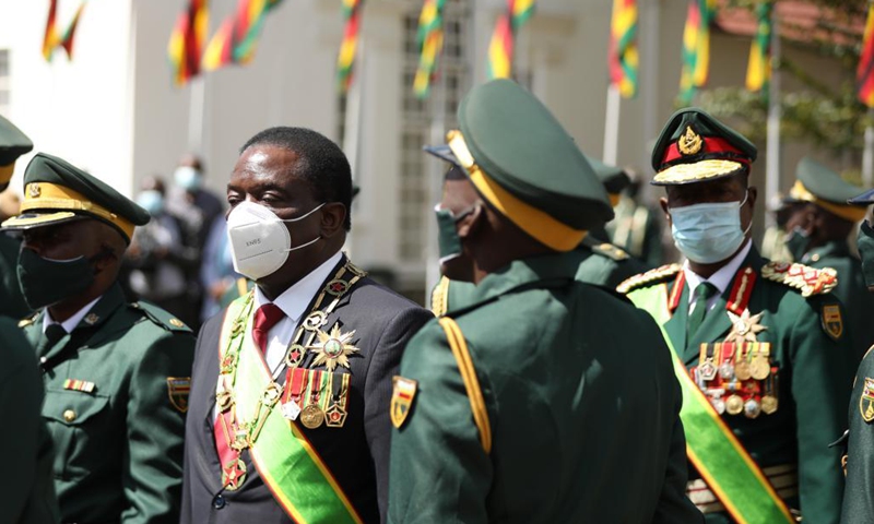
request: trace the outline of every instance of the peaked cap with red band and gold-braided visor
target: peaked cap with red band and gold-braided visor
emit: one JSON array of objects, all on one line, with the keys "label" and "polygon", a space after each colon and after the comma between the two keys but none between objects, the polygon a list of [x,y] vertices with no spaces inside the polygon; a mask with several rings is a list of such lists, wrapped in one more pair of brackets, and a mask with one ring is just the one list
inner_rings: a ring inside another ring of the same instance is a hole
[{"label": "peaked cap with red band and gold-braided visor", "polygon": [[652,148],[654,186],[677,186],[730,177],[756,160],[757,150],[741,133],[707,111],[676,111]]}]

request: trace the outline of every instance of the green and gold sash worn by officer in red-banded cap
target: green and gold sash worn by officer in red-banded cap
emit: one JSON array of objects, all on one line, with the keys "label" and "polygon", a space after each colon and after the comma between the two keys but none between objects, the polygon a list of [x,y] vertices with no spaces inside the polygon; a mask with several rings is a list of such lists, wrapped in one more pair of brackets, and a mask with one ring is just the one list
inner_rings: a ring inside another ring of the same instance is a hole
[{"label": "green and gold sash worn by officer in red-banded cap", "polygon": [[680,418],[686,429],[686,452],[701,478],[740,524],[795,522],[765,474],[695,384],[677,356],[664,323],[671,318],[668,285],[643,287],[628,294],[662,330],[683,391]]}]

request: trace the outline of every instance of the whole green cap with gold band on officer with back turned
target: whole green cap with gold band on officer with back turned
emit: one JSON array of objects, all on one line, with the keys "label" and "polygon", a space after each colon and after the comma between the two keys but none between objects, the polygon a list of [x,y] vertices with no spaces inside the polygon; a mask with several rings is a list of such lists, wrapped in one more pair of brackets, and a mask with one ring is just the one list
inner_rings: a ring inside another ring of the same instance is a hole
[{"label": "whole green cap with gold band on officer with back turned", "polygon": [[556,251],[613,218],[601,181],[574,139],[536,97],[494,80],[459,105],[460,130],[425,151],[459,166],[498,213]]}]

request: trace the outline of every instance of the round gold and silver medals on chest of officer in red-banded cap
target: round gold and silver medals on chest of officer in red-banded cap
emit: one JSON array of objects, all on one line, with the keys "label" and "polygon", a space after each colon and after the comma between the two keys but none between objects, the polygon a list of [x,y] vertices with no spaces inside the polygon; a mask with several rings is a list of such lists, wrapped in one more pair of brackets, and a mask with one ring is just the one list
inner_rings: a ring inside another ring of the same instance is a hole
[{"label": "round gold and silver medals on chest of officer in red-banded cap", "polygon": [[[739,350],[742,348],[743,346],[740,346]],[[720,415],[725,413],[740,415],[743,413],[747,418],[757,418],[761,413],[766,415],[776,413],[778,408],[776,392],[766,392],[760,397],[757,394],[744,397],[740,393],[743,392],[741,388],[743,382],[749,380],[760,382],[768,379],[768,377],[771,377],[771,380],[776,380],[777,368],[771,369],[768,357],[760,353],[753,356],[749,361],[746,361],[746,355],[743,352],[741,352],[741,355],[744,355],[741,361],[735,364],[731,360],[725,360],[719,367],[713,364],[712,359],[705,360],[695,370],[698,386]],[[720,379],[718,382],[722,388],[713,388],[706,384],[706,382],[713,382],[717,378]],[[728,390],[732,393],[723,400],[722,397],[725,394],[724,385],[728,385]]]}]

